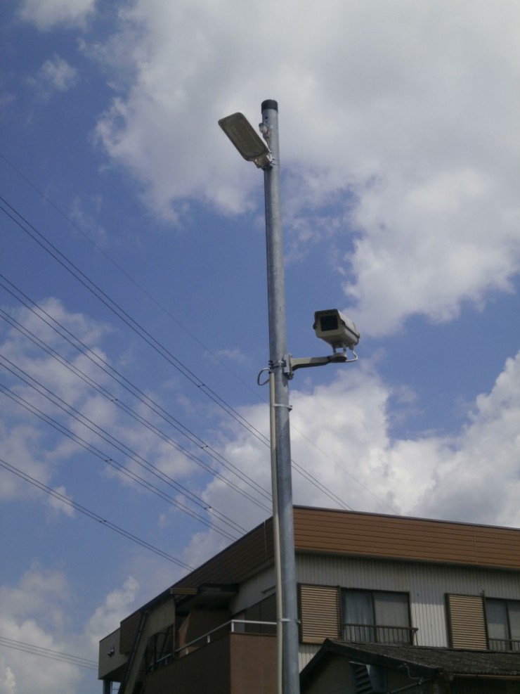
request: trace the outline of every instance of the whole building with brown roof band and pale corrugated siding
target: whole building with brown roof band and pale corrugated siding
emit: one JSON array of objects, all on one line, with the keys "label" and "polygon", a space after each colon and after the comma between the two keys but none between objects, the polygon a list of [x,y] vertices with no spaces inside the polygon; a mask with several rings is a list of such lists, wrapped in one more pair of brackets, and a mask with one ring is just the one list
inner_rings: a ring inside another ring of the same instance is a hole
[{"label": "whole building with brown roof band and pale corrugated siding", "polygon": [[[302,694],[520,692],[520,530],[297,506],[294,542]],[[274,693],[274,584],[269,519],[103,638],[105,694]]]}]

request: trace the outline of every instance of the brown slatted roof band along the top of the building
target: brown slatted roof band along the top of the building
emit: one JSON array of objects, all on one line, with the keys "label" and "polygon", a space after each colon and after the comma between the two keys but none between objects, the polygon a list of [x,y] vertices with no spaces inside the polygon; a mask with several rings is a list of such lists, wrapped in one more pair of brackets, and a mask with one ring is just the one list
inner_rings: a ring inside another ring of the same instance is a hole
[{"label": "brown slatted roof band along the top of the building", "polygon": [[[380,513],[294,507],[297,553],[520,570],[520,530]],[[273,563],[272,518],[174,584],[241,583]]]}]

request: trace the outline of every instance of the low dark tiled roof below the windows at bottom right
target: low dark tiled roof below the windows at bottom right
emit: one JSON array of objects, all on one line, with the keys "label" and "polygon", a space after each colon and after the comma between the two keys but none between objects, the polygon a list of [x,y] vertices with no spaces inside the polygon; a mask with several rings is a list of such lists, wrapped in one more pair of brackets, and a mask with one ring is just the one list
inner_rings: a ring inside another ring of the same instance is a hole
[{"label": "low dark tiled roof below the windows at bottom right", "polygon": [[331,656],[380,665],[392,669],[405,666],[411,676],[470,678],[507,678],[520,680],[520,652],[427,648],[390,643],[347,643],[327,639],[313,659],[301,671],[301,682],[310,679],[317,668],[325,667]]}]

